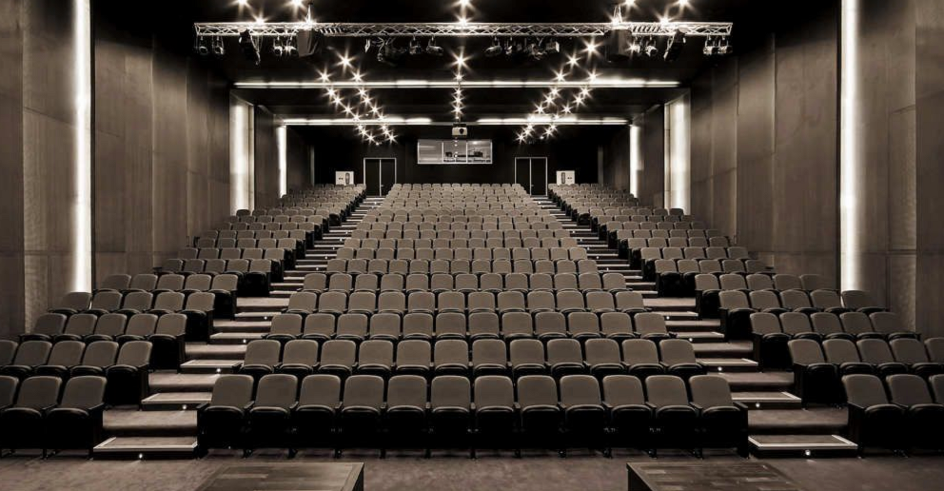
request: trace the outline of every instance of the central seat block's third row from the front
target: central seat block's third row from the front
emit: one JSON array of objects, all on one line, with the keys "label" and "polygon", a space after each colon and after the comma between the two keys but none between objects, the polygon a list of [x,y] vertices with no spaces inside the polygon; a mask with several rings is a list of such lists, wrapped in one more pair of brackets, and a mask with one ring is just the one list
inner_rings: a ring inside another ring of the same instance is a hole
[{"label": "central seat block's third row from the front", "polygon": [[279,313],[265,335],[282,341],[329,339],[515,339],[540,341],[573,337],[660,340],[674,337],[657,313]]}]

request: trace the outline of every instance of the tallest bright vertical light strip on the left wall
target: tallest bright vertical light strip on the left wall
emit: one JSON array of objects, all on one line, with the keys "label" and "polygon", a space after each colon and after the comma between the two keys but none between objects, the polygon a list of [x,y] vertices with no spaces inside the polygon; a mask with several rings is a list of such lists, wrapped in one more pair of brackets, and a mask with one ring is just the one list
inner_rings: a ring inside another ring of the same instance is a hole
[{"label": "tallest bright vertical light strip on the left wall", "polygon": [[76,103],[75,190],[72,203],[72,289],[92,291],[92,6],[74,0],[73,74]]}]

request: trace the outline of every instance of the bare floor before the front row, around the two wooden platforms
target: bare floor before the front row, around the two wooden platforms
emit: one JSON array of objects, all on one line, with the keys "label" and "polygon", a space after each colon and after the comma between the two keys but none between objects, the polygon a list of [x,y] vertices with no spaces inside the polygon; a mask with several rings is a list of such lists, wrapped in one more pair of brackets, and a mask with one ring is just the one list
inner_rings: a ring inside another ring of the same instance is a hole
[{"label": "bare floor before the front row, around the two wooden platforms", "polygon": [[[0,460],[0,489],[4,491],[194,491],[222,466],[252,462],[332,462],[327,451],[300,453],[287,461],[278,451],[248,460],[234,453],[214,452],[201,460],[87,461],[57,456],[46,461],[16,456]],[[367,491],[614,491],[627,488],[626,463],[650,462],[643,454],[615,451],[613,459],[572,451],[567,459],[549,454],[526,454],[514,459],[507,453],[481,451],[478,460],[463,452],[437,452],[432,459],[418,453],[391,452],[385,460],[376,451],[347,452],[345,461],[365,463]],[[700,462],[666,452],[660,460]],[[741,462],[714,454],[707,463]],[[808,491],[936,491],[944,483],[944,457],[876,456],[866,459],[781,459],[767,461]]]}]

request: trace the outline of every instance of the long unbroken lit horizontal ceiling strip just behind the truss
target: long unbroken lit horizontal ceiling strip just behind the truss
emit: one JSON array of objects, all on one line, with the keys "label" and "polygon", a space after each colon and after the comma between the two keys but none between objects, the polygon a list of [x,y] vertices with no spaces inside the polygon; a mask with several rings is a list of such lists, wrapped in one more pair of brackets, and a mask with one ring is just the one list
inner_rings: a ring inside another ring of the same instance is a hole
[{"label": "long unbroken lit horizontal ceiling strip just behind the truss", "polygon": [[237,89],[645,89],[645,88],[674,88],[680,83],[674,80],[647,80],[644,78],[605,78],[597,77],[592,81],[565,80],[553,82],[548,80],[363,80],[336,82],[236,82]]}]

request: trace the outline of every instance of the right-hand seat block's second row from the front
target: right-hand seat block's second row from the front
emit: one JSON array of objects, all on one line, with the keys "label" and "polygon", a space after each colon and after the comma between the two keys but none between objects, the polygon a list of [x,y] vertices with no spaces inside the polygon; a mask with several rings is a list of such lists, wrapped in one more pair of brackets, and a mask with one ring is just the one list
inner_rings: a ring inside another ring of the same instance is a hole
[{"label": "right-hand seat block's second row from the front", "polygon": [[[938,342],[939,344],[939,342]],[[845,339],[829,339],[820,345],[811,339],[787,343],[793,362],[794,390],[803,403],[843,402],[841,377],[851,374],[895,374],[930,377],[944,373],[944,363],[933,362],[917,339],[885,342],[861,339],[854,344]]]}]

